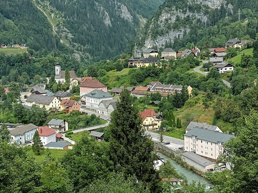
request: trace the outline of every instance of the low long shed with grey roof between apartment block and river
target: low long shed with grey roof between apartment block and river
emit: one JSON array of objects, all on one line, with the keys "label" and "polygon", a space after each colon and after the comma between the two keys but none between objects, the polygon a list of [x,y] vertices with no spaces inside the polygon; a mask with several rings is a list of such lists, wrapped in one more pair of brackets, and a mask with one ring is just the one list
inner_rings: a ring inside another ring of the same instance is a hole
[{"label": "low long shed with grey roof between apartment block and river", "polygon": [[205,158],[193,153],[191,151],[187,151],[181,154],[182,161],[186,162],[188,165],[193,166],[196,170],[199,170],[203,173],[207,172],[208,169],[214,169],[215,163]]}]

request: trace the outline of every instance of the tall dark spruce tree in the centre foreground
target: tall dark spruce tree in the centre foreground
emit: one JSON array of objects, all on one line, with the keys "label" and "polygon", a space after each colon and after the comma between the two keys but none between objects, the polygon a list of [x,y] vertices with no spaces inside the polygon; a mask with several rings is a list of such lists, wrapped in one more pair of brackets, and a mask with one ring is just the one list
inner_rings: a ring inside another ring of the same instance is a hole
[{"label": "tall dark spruce tree in the centre foreground", "polygon": [[157,159],[154,143],[142,128],[142,117],[133,106],[131,92],[123,89],[116,110],[111,113],[110,159],[118,171],[136,175],[151,192],[160,192],[161,179],[153,164]]}]

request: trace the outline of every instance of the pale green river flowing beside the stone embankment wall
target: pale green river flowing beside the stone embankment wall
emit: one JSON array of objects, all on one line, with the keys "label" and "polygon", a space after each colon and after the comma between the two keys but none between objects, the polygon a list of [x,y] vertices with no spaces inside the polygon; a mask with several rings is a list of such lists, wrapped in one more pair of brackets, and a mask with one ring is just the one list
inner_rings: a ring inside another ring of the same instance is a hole
[{"label": "pale green river flowing beside the stone embankment wall", "polygon": [[163,157],[165,162],[167,160],[169,160],[170,163],[175,167],[178,174],[182,173],[186,176],[186,178],[188,180],[188,183],[191,183],[193,180],[195,180],[196,184],[198,182],[201,182],[201,184],[205,184],[206,187],[207,186],[210,186],[210,187],[213,186],[211,184],[211,182],[209,182],[208,180],[205,180],[203,177],[199,176],[198,174],[186,169],[184,166],[182,166],[179,163],[177,163],[176,161],[172,160],[171,157],[168,157],[167,155],[165,155],[161,152],[157,152],[157,155],[159,155],[160,157]]}]

